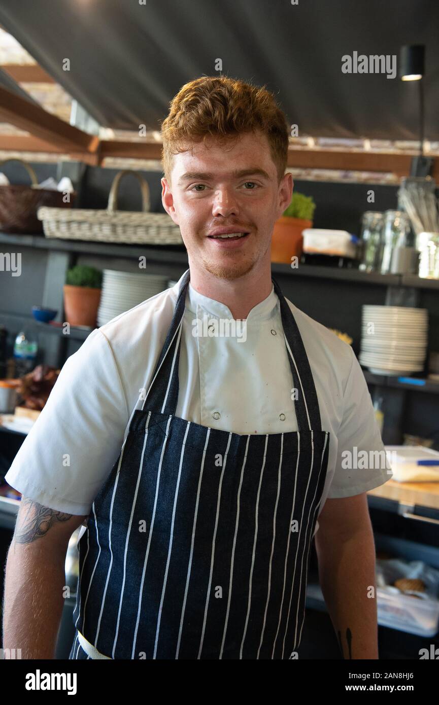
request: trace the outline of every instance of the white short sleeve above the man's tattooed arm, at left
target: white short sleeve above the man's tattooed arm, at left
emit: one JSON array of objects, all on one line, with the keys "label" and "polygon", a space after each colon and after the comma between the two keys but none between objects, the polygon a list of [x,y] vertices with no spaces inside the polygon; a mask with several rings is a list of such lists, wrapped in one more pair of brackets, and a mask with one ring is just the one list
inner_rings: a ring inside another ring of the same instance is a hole
[{"label": "white short sleeve above the man's tattooed arm, at left", "polygon": [[88,515],[119,457],[128,417],[112,348],[96,329],[64,363],[6,482],[42,505]]}]

